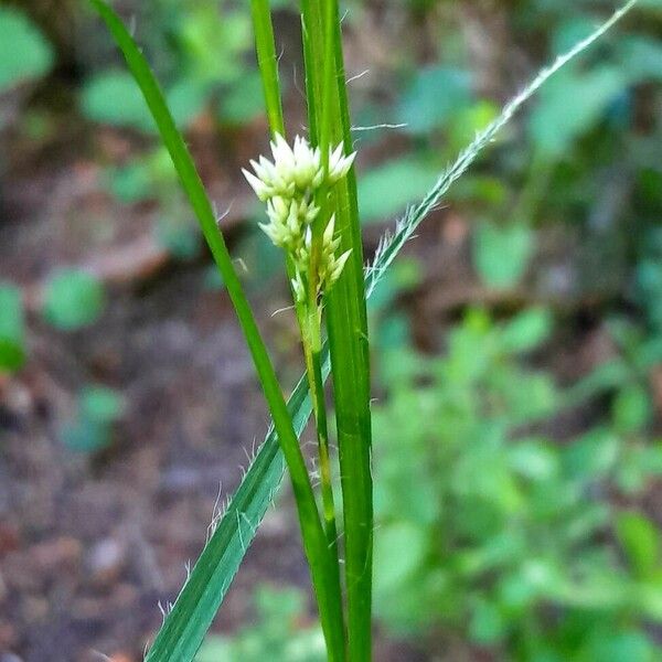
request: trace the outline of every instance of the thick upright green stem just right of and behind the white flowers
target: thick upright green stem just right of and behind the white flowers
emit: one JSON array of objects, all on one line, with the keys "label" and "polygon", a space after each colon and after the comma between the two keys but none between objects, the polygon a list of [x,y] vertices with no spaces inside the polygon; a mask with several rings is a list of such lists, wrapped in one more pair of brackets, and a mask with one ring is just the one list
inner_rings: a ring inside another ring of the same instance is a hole
[{"label": "thick upright green stem just right of and behind the white flowers", "polygon": [[[301,0],[301,8],[306,65],[314,67],[314,72],[307,73],[309,117],[316,118],[318,130],[311,140],[321,143],[320,134],[327,131],[321,125],[328,121],[329,140],[342,139],[349,153],[352,140],[338,2]],[[327,55],[330,33],[332,57]],[[320,81],[319,72],[329,77]],[[372,654],[372,433],[363,249],[353,169],[334,186],[332,196],[340,252],[352,250],[325,305],[344,513],[348,658],[351,662],[366,662]]]}]

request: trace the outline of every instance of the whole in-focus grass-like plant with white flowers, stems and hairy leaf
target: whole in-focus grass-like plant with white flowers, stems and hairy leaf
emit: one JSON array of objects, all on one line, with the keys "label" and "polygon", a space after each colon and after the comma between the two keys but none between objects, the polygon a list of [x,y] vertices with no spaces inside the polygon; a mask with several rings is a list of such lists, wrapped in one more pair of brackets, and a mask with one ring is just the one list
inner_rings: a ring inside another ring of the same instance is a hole
[{"label": "whole in-focus grass-like plant with white flowers, stems and hairy leaf", "polygon": [[[124,53],[172,158],[235,307],[273,419],[264,445],[215,524],[147,660],[188,662],[194,659],[287,468],[328,658],[367,661],[372,641],[373,505],[366,299],[424,217],[519,107],[549,76],[609,30],[636,0],[543,70],[508,104],[440,175],[429,194],[407,212],[395,232],[384,237],[373,264],[366,268],[352,167],[353,143],[338,0],[300,2],[309,135],[293,140],[287,136],[282,115],[269,2],[252,0],[274,161],[260,158],[254,162],[254,173],[246,171],[246,177],[266,203],[268,222],[263,228],[285,253],[306,360],[306,375],[287,403],[213,206],[163,94],[119,18],[104,0],[90,2]],[[330,453],[327,425],[324,382],[329,374],[338,430],[340,491],[332,482],[334,458]],[[311,414],[318,438],[319,499],[298,440]],[[339,496],[343,511],[340,538]],[[344,563],[341,563],[341,553]]]}]

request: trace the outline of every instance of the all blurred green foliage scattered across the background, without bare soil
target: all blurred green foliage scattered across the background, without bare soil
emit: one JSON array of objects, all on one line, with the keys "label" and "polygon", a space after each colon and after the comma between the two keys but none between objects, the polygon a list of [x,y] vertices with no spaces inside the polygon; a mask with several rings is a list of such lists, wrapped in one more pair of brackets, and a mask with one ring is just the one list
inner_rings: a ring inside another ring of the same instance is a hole
[{"label": "all blurred green foliage scattered across the background, without bare soil", "polygon": [[[297,20],[293,2],[273,4]],[[348,4],[353,39],[365,3]],[[469,65],[457,23],[446,22],[459,4],[380,4],[385,12],[410,11],[417,29],[425,23],[434,38],[426,36],[423,65],[410,43],[392,44],[391,68],[374,81],[376,93],[356,93],[356,124],[406,125],[395,134],[357,134],[360,148],[396,136],[397,151],[386,150],[391,156],[370,163],[360,178],[366,223],[388,220],[423,196],[494,116],[498,104],[480,89],[483,72]],[[521,61],[536,71],[613,4],[509,3],[500,93],[510,96],[527,77],[517,68]],[[156,0],[127,7],[138,12],[138,39],[181,127],[206,114],[216,130],[232,134],[263,113],[246,3]],[[526,354],[541,353],[552,333],[551,313],[533,308],[505,323],[470,311],[449,334],[445,356],[424,357],[407,349],[407,318],[389,312],[399,293],[420,282],[420,266],[401,260],[375,292],[373,339],[386,393],[374,406],[376,608],[396,632],[441,629],[498,656],[534,662],[662,656],[643,628],[662,620],[660,532],[634,506],[650,477],[662,473],[643,378],[662,363],[661,12],[662,0],[640,0],[631,20],[543,88],[520,127],[448,197],[472,224],[472,266],[491,288],[524,282],[536,264],[540,229],[578,231],[574,241],[597,265],[587,287],[618,278],[615,299],[600,314],[622,308],[624,299],[641,316],[640,324],[609,323],[618,356],[559,388],[551,371],[527,367]],[[53,57],[23,12],[0,8],[1,94],[39,81]],[[149,140],[151,118],[115,55],[94,68],[83,63],[82,72],[84,117],[137,134],[139,146],[142,135]],[[44,131],[40,117],[24,115],[26,135]],[[196,253],[196,226],[163,150],[148,147],[107,168],[105,184],[127,204],[154,200],[160,241],[179,257]],[[254,281],[268,278],[279,263],[259,232],[247,233],[237,254]],[[44,291],[43,314],[71,331],[94,323],[105,298],[90,276],[56,273]],[[0,285],[0,371],[11,372],[26,354],[21,292],[11,284]],[[551,420],[589,401],[602,414],[584,433],[555,439]],[[63,442],[85,452],[105,448],[125,405],[113,389],[83,389]],[[210,638],[199,662],[322,660],[321,634],[305,627],[303,611],[296,592],[260,590],[255,626]]]}]

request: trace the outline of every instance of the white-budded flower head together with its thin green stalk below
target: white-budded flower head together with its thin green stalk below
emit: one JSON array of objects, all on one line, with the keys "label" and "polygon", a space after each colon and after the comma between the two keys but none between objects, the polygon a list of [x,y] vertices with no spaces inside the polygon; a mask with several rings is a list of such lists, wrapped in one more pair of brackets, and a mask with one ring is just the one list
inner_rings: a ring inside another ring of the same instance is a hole
[{"label": "white-budded flower head together with its thin green stalk below", "polygon": [[[327,578],[330,590],[320,591],[316,587],[316,592],[322,624],[327,623],[329,659],[344,660],[346,637],[321,352],[324,298],[352,254],[351,248],[339,252],[340,238],[335,234],[335,214],[331,209],[332,191],[346,177],[355,153],[345,156],[342,142],[333,149],[329,146],[323,150],[313,148],[300,136],[290,147],[281,127],[271,126],[271,129],[273,161],[259,157],[250,161],[253,172],[243,170],[243,173],[257,197],[265,203],[268,221],[259,224],[260,229],[286,255],[316,421],[322,526],[331,567],[331,576]],[[325,605],[322,595],[327,596],[327,601],[331,597],[332,604]],[[341,605],[340,613],[334,607],[337,604]]]}]

